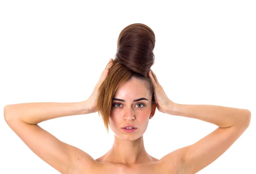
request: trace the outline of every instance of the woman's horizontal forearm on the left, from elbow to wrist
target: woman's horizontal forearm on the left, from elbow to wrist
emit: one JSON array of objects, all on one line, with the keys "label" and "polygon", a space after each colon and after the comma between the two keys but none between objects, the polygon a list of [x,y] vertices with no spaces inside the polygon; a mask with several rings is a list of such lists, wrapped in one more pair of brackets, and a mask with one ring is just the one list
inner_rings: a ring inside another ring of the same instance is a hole
[{"label": "woman's horizontal forearm on the left, from elbow to wrist", "polygon": [[20,103],[7,105],[4,108],[6,122],[15,119],[28,124],[38,124],[58,117],[90,113],[92,113],[92,109],[86,100],[77,103]]}]

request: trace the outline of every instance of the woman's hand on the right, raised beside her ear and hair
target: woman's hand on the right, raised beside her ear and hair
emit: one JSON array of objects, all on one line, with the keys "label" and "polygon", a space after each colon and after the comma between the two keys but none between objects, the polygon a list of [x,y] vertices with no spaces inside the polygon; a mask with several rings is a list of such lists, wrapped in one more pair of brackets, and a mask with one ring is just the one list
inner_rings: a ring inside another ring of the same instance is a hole
[{"label": "woman's hand on the right, raised beside her ear and hair", "polygon": [[165,91],[163,90],[163,87],[157,80],[156,74],[154,74],[154,72],[151,70],[151,72],[148,72],[148,76],[151,79],[154,86],[154,95],[155,99],[157,100],[157,109],[163,113],[168,113],[172,111],[172,108],[174,107],[175,103],[167,97]]}]

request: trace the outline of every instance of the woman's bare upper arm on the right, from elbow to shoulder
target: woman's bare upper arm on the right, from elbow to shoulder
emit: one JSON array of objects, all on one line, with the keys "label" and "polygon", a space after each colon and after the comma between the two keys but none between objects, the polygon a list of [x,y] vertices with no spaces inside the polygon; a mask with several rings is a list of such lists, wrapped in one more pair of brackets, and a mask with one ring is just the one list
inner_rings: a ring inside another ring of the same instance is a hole
[{"label": "woman's bare upper arm on the right, from elbow to shoulder", "polygon": [[195,174],[218,159],[243,134],[249,123],[239,123],[227,128],[216,128],[215,131],[192,145],[179,148],[164,156],[163,168],[177,174]]}]

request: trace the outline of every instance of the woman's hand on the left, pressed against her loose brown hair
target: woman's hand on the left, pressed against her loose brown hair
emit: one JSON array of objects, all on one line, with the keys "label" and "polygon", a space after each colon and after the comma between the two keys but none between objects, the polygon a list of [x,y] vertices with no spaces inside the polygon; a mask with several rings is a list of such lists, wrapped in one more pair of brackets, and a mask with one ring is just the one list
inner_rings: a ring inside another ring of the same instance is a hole
[{"label": "woman's hand on the left, pressed against her loose brown hair", "polygon": [[109,73],[109,68],[111,68],[111,66],[113,66],[112,63],[113,59],[110,59],[106,68],[104,69],[104,71],[102,72],[98,83],[96,84],[95,88],[93,89],[93,93],[90,95],[90,97],[84,101],[85,103],[87,103],[87,105],[90,107],[90,112],[94,113],[97,112],[97,96],[98,96],[98,89],[101,86],[102,82],[106,79],[106,77],[108,76]]}]

